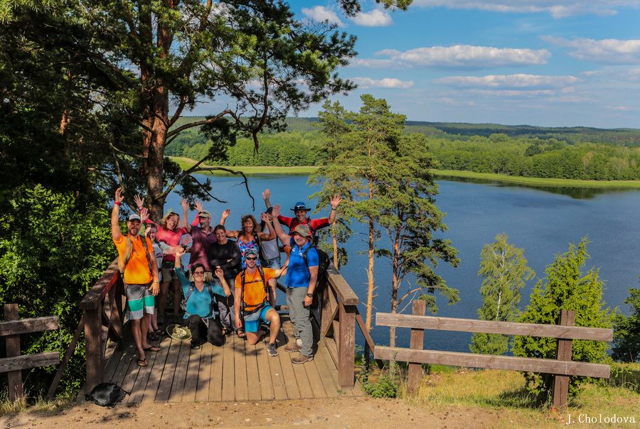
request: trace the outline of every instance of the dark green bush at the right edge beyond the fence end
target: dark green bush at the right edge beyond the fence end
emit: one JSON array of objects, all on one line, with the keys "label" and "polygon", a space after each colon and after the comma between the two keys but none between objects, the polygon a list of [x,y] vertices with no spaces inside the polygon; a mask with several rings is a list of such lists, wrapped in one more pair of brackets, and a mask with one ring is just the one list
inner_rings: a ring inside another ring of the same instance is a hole
[{"label": "dark green bush at the right edge beyond the fence end", "polygon": [[617,314],[614,318],[613,359],[622,362],[640,360],[640,289],[629,289],[624,303],[631,307],[631,315]]}]

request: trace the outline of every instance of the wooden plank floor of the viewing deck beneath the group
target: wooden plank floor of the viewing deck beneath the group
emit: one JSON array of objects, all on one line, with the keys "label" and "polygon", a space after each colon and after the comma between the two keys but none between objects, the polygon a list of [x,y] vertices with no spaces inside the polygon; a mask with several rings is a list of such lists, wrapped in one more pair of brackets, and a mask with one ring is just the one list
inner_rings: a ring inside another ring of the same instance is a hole
[{"label": "wooden plank floor of the viewing deck beneath the group", "polygon": [[[105,380],[131,390],[129,403],[269,401],[299,398],[326,398],[340,394],[361,394],[359,389],[338,387],[338,372],[327,342],[318,344],[312,362],[294,365],[296,353],[284,352],[287,339],[294,339],[292,325],[282,317],[278,336],[278,357],[267,352],[268,339],[255,346],[238,337],[227,337],[223,347],[203,344],[191,350],[188,341],[164,337],[160,352],[148,352],[149,366],[137,366],[137,351],[131,335],[123,338],[105,369]],[[126,341],[126,344],[124,343]],[[330,342],[331,340],[329,340]],[[334,344],[329,344],[329,347]]]}]

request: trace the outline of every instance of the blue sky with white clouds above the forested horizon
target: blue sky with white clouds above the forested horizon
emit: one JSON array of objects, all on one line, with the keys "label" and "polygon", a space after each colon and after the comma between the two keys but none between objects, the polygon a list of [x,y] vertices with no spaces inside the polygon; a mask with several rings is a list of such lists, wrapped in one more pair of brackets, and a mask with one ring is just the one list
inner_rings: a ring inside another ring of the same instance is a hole
[{"label": "blue sky with white clouds above the forested horizon", "polygon": [[331,97],[347,109],[373,94],[410,121],[640,128],[640,0],[363,0],[353,18],[336,0],[289,4],[357,36],[338,73],[358,88]]}]

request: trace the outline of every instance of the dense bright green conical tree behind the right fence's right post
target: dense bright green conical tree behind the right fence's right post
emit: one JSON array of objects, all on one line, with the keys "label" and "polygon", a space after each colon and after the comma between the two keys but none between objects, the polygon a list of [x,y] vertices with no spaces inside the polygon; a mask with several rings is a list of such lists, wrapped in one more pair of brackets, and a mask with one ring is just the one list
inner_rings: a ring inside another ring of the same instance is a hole
[{"label": "dense bright green conical tree behind the right fence's right post", "polygon": [[[612,327],[612,315],[604,308],[602,284],[598,270],[591,268],[582,274],[589,255],[587,238],[580,244],[570,244],[569,251],[556,256],[553,264],[546,268],[547,278],[540,280],[533,288],[530,304],[519,317],[519,322],[555,325],[560,310],[575,311],[575,325],[585,327]],[[555,359],[557,340],[542,337],[515,337],[513,354],[522,357]],[[602,363],[607,357],[609,345],[603,341],[573,340],[571,360]],[[553,388],[553,376],[549,374],[526,373],[527,388],[541,397],[548,396]],[[577,391],[577,384],[584,377],[570,377],[570,395]]]}]

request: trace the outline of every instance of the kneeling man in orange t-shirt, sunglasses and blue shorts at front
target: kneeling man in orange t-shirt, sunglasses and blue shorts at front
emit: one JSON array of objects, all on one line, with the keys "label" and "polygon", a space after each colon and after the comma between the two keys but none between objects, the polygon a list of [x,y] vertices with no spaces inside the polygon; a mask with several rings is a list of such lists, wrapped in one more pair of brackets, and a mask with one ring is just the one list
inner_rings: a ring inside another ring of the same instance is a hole
[{"label": "kneeling man in orange t-shirt, sunglasses and blue shorts at front", "polygon": [[[267,352],[270,356],[277,356],[278,349],[276,345],[276,337],[280,330],[280,316],[275,310],[275,292],[276,278],[282,276],[287,271],[284,268],[274,270],[272,268],[257,267],[258,253],[254,248],[245,251],[245,264],[247,268],[242,270],[235,278],[235,327],[242,327],[242,319],[240,318],[240,309],[245,321],[245,333],[249,344],[256,344],[260,341],[260,337],[264,332],[260,330],[260,322],[270,324],[269,344],[267,344]],[[267,287],[263,283],[260,270],[264,274],[264,281],[269,286],[269,296],[267,297]],[[242,285],[242,276],[244,276],[244,287]],[[244,290],[243,290],[244,289]]]}]

